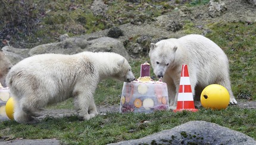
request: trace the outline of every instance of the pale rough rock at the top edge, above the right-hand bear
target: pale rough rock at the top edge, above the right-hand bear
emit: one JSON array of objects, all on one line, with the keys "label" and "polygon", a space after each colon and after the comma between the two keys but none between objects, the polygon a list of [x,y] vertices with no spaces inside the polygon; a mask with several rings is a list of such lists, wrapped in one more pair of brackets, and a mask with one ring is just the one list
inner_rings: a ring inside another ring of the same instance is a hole
[{"label": "pale rough rock at the top edge, above the right-hand bear", "polygon": [[219,1],[214,1],[210,0],[210,5],[209,5],[209,11],[208,14],[215,18],[217,16],[221,16],[223,12],[227,11],[226,4],[222,2],[221,0]]}]

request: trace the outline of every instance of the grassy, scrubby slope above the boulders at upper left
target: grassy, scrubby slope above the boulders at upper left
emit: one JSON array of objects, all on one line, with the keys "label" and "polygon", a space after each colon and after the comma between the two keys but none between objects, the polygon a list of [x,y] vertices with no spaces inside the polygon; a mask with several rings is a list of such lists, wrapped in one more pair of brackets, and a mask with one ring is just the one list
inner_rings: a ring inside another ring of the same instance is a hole
[{"label": "grassy, scrubby slope above the boulders at upper left", "polygon": [[93,1],[9,1],[0,8],[0,47],[32,48],[58,40],[62,34],[77,36],[127,22],[153,21],[173,7],[168,1],[132,4],[123,0],[104,1],[104,14],[93,14]]}]

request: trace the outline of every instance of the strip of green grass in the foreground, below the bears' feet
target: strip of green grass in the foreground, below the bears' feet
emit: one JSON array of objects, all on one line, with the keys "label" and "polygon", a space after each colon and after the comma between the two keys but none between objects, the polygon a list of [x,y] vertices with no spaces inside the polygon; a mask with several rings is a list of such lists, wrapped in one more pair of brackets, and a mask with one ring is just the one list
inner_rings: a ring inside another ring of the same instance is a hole
[{"label": "strip of green grass in the foreground, below the bears' feet", "polygon": [[[89,121],[78,121],[76,116],[46,118],[36,125],[4,121],[0,124],[0,136],[12,134],[11,138],[57,138],[64,144],[107,144],[145,137],[188,121],[202,120],[256,138],[255,118],[255,109],[241,109],[235,106],[221,111],[201,108],[198,112],[111,113],[98,115]],[[143,121],[149,122],[143,123]]]}]

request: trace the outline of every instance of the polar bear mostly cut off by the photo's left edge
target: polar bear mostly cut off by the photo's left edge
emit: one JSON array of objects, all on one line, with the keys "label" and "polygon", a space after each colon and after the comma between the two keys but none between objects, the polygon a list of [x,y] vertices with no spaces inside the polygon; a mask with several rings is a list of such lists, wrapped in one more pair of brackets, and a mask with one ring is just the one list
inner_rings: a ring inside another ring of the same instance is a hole
[{"label": "polar bear mostly cut off by the photo's left edge", "polygon": [[5,56],[4,52],[0,51],[0,83],[6,87],[5,77],[13,65],[10,60]]}]

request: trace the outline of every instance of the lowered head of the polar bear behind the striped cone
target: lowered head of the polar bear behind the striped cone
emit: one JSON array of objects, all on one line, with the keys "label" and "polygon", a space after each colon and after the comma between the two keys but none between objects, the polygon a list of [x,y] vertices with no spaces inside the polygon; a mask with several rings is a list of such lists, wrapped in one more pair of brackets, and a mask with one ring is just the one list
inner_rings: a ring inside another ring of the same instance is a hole
[{"label": "lowered head of the polar bear behind the striped cone", "polygon": [[149,57],[157,78],[162,78],[168,67],[173,65],[177,45],[170,40],[151,43]]}]

